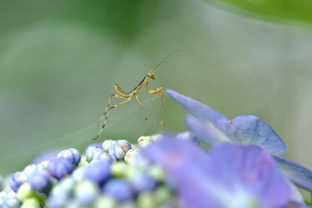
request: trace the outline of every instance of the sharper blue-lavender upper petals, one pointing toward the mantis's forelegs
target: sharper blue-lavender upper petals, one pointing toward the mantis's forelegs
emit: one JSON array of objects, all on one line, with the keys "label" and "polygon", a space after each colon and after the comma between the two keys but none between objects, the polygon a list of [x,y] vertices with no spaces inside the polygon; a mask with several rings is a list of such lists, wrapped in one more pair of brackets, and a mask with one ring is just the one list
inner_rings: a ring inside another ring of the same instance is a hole
[{"label": "sharper blue-lavender upper petals, one pointing toward the mantis's forelegs", "polygon": [[186,117],[184,124],[208,146],[230,139],[234,143],[256,144],[277,155],[286,151],[285,143],[270,125],[255,116],[238,116],[230,121],[208,106],[171,89],[167,93],[198,119]]}]

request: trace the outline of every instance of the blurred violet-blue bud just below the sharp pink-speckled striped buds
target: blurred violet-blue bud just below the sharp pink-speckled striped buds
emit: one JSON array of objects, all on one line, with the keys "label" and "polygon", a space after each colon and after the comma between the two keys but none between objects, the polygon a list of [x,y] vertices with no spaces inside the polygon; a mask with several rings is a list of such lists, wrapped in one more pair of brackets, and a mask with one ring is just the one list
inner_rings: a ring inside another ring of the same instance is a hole
[{"label": "blurred violet-blue bud just below the sharp pink-speckled striped buds", "polygon": [[102,186],[110,177],[110,163],[106,161],[93,160],[86,167],[85,178],[95,181]]}]

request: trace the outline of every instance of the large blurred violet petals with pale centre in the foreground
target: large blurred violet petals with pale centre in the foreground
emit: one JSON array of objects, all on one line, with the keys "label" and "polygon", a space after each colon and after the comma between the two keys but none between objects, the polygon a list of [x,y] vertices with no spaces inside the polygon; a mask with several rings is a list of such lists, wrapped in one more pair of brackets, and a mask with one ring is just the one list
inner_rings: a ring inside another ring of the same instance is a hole
[{"label": "large blurred violet petals with pale centre in the foreground", "polygon": [[[162,139],[145,151],[172,178],[186,207],[281,207],[290,199],[287,182],[271,154],[253,145],[202,148]],[[154,152],[157,152],[155,154]]]}]

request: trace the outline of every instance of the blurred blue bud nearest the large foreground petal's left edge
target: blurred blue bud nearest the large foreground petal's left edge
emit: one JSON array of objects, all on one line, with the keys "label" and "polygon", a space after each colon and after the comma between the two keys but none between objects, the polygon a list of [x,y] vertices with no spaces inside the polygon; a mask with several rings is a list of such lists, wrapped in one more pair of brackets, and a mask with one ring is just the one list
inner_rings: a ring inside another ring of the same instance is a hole
[{"label": "blurred blue bud nearest the large foreground petal's left edge", "polygon": [[157,186],[157,181],[154,178],[142,172],[131,177],[130,183],[135,193],[153,191]]}]

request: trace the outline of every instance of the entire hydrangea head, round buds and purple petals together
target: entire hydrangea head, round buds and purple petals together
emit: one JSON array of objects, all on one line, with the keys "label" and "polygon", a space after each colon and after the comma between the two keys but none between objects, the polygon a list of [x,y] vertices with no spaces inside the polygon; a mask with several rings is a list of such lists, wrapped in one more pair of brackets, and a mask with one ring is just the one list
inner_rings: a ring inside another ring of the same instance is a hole
[{"label": "entire hydrangea head, round buds and purple petals together", "polygon": [[312,192],[312,171],[279,156],[286,145],[265,121],[167,93],[192,115],[189,131],[63,150],[13,174],[0,208],[308,207],[295,185]]}]

